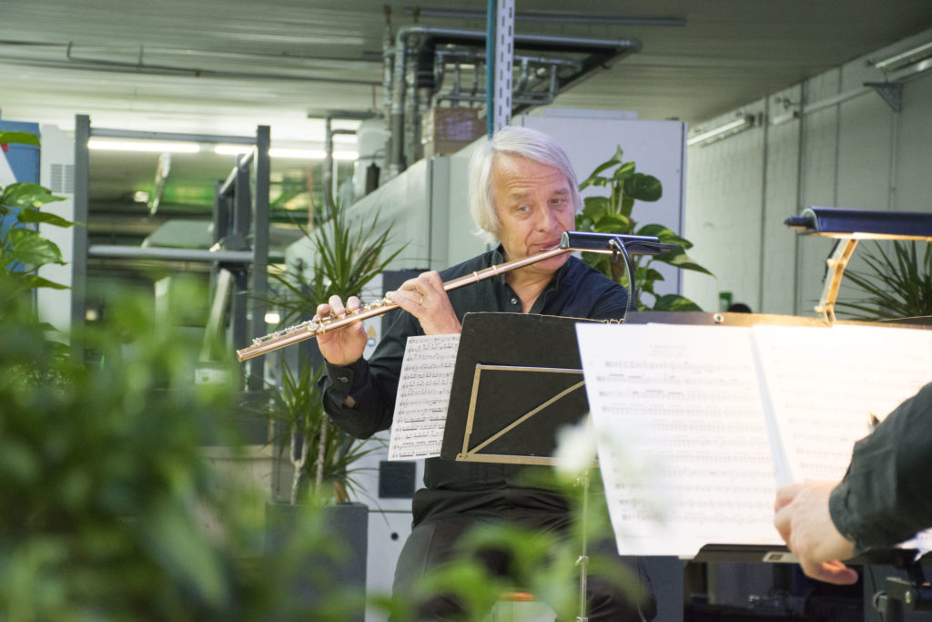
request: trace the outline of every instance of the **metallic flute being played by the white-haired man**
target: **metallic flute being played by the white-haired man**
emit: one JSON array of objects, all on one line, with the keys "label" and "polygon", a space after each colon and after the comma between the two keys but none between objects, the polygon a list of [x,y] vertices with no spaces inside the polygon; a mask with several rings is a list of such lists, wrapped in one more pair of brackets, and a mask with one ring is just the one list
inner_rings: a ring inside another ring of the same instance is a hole
[{"label": "metallic flute being played by the white-haired man", "polygon": [[[491,266],[485,270],[478,270],[472,274],[467,274],[444,283],[444,290],[448,292],[458,287],[462,287],[463,285],[478,283],[479,281],[483,281],[497,274],[504,274],[505,272],[509,272],[511,270],[517,270],[519,268],[535,264],[539,261],[543,261],[544,259],[549,259],[550,257],[569,253],[572,250],[573,249],[571,248],[556,247],[546,251],[541,251],[541,253],[538,255],[522,257],[521,259],[515,259],[514,261],[501,264],[500,266]],[[241,350],[237,350],[236,356],[240,362],[246,361],[256,356],[262,356],[268,352],[273,352],[275,350],[279,350],[280,348],[304,341],[305,339],[312,339],[322,335],[329,330],[336,330],[343,326],[352,324],[353,322],[359,322],[370,317],[375,317],[397,308],[398,305],[391,302],[391,300],[379,298],[375,302],[365,305],[357,311],[349,311],[346,315],[343,316],[322,318],[318,322],[308,320],[308,322],[302,322],[301,324],[282,328],[281,330],[274,333],[269,333],[265,337],[253,339],[252,344]]]}]

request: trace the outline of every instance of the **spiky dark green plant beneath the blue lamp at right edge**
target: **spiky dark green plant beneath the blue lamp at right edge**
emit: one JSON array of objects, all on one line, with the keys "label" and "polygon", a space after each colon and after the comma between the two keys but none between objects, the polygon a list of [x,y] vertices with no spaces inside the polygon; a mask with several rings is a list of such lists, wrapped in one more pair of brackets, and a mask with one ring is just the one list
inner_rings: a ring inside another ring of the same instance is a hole
[{"label": "spiky dark green plant beneath the blue lamp at right edge", "polygon": [[844,278],[854,283],[852,300],[839,300],[836,307],[850,319],[867,322],[907,320],[932,323],[932,244],[920,256],[916,242],[894,241],[891,253],[880,242],[862,255],[864,270],[845,270]]}]

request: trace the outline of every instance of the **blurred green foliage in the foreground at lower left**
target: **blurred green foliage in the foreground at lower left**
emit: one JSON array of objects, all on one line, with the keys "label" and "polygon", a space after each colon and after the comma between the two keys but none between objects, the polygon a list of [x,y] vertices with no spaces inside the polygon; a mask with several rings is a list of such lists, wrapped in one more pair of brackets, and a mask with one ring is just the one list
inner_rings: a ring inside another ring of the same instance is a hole
[{"label": "blurred green foliage in the foreground at lower left", "polygon": [[[177,293],[175,304],[207,299]],[[436,592],[458,595],[465,618],[480,620],[514,587],[469,561],[486,546],[510,550],[522,587],[574,614],[578,537],[483,529],[462,560],[393,598],[334,585],[328,560],[345,543],[326,507],[297,508],[269,552],[267,491],[240,488],[204,457],[205,446],[243,449],[235,387],[195,382],[201,344],[171,319],[187,311],[157,322],[153,307],[115,295],[103,321],[62,346],[35,319],[31,292],[0,270],[0,622],[341,622],[360,619],[367,602],[406,620]],[[238,373],[231,362],[230,378]]]}]

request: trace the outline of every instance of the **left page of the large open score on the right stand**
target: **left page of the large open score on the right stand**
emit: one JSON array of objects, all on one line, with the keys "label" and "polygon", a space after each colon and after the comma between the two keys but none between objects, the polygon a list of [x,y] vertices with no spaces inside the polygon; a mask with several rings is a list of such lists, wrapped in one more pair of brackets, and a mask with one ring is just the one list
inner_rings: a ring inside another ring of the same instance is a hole
[{"label": "left page of the large open score on the right stand", "polygon": [[780,544],[747,328],[577,325],[619,551]]}]

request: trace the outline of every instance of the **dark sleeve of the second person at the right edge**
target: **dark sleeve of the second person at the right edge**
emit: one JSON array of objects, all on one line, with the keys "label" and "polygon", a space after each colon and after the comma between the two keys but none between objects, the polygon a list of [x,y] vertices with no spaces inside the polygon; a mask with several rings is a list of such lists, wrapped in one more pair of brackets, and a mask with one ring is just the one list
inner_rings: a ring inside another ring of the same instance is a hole
[{"label": "dark sleeve of the second person at the right edge", "polygon": [[932,527],[932,383],[855,444],[848,472],[831,492],[835,527],[855,552],[893,546]]}]

